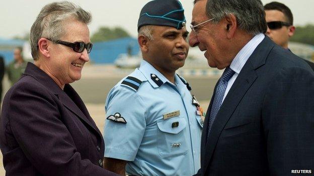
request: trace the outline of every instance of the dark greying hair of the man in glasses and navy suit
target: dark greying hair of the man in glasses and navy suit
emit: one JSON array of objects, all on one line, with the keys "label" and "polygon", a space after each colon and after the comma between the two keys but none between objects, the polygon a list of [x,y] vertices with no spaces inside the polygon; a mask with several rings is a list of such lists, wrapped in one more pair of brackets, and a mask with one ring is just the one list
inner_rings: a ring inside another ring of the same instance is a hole
[{"label": "dark greying hair of the man in glasses and navy suit", "polygon": [[207,0],[206,15],[214,19],[213,23],[218,24],[230,14],[236,16],[238,27],[251,35],[267,31],[265,11],[260,0]]}]

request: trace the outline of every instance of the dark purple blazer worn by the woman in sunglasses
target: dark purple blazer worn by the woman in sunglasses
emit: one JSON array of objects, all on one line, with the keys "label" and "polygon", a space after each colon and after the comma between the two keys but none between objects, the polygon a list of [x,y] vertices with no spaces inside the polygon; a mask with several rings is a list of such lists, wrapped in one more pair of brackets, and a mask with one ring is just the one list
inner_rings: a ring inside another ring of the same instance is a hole
[{"label": "dark purple blazer worn by the woman in sunglasses", "polygon": [[102,168],[104,140],[74,89],[28,63],[3,102],[7,175],[116,175]]}]

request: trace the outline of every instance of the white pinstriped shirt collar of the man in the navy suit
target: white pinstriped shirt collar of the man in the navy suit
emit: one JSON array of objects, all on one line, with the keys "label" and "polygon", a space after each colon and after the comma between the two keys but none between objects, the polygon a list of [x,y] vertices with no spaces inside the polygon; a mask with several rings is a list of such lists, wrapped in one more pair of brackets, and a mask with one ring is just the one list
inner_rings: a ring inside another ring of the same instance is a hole
[{"label": "white pinstriped shirt collar of the man in the navy suit", "polygon": [[253,37],[237,54],[236,57],[232,60],[230,68],[236,72],[240,73],[245,63],[248,61],[256,47],[264,40],[264,34],[258,34]]}]

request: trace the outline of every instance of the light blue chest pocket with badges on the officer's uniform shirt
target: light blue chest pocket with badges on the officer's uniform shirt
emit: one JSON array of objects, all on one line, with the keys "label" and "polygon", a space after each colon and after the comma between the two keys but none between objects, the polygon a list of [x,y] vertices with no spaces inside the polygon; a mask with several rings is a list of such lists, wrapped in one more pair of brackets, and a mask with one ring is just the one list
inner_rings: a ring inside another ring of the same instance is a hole
[{"label": "light blue chest pocket with badges on the officer's uniform shirt", "polygon": [[163,157],[173,157],[188,152],[186,120],[174,117],[157,121],[158,150]]}]

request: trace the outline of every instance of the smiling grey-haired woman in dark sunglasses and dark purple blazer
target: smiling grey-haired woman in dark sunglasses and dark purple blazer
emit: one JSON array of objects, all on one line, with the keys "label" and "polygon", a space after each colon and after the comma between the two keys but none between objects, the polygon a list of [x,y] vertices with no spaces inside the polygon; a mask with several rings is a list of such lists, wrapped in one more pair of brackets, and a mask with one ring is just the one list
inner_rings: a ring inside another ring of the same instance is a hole
[{"label": "smiling grey-haired woman in dark sunglasses and dark purple blazer", "polygon": [[34,64],[3,103],[6,175],[117,175],[103,168],[102,134],[69,85],[89,61],[90,22],[88,12],[69,2],[46,5],[34,22]]}]

